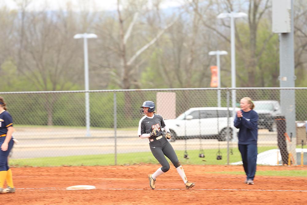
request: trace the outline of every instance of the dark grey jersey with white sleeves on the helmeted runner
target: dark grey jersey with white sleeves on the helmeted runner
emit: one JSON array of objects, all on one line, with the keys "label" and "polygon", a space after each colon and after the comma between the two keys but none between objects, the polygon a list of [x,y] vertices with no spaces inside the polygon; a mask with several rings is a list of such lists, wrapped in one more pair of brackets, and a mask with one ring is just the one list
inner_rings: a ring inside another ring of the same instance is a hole
[{"label": "dark grey jersey with white sleeves on the helmeted runner", "polygon": [[[157,135],[155,137],[162,135],[161,128],[165,127],[165,123],[163,117],[159,114],[153,114],[153,117],[143,116],[138,123],[138,136],[142,134],[148,134],[153,131],[153,129],[157,129]],[[149,139],[153,139],[155,137],[150,137]]]}]

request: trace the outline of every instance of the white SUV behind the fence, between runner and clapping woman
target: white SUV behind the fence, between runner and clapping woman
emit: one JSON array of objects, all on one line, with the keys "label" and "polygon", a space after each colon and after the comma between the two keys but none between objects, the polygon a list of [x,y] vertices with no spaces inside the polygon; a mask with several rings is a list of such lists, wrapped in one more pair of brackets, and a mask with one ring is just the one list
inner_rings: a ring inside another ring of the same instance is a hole
[{"label": "white SUV behind the fence, between runner and clapping woman", "polygon": [[[191,138],[210,138],[225,141],[227,140],[227,130],[229,130],[230,139],[232,139],[234,121],[232,108],[228,109],[229,125],[227,123],[227,107],[190,108],[176,119],[164,121],[169,127],[172,141]],[[239,110],[239,108],[236,108],[236,110]]]}]

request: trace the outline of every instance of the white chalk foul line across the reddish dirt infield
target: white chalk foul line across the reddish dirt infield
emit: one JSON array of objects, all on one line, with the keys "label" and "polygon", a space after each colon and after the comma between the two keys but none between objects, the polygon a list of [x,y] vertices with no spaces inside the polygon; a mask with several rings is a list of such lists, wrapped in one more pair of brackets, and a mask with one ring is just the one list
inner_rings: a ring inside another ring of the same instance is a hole
[{"label": "white chalk foul line across the reddish dirt infield", "polygon": [[[20,191],[49,191],[49,190],[66,190],[65,187],[45,187],[45,188],[16,188]],[[128,188],[110,188],[102,190],[146,190],[146,189],[128,189]],[[187,190],[187,189],[155,189],[155,190]],[[196,191],[294,191],[294,192],[307,192],[307,190],[273,190],[273,189],[195,189]],[[68,190],[72,191],[72,190]]]}]

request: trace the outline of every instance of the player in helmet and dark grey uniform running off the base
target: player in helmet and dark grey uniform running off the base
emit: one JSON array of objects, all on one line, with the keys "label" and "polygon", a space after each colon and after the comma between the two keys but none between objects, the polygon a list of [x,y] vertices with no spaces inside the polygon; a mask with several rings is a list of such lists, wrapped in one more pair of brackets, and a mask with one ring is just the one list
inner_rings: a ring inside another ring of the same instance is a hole
[{"label": "player in helmet and dark grey uniform running off the base", "polygon": [[[138,124],[138,136],[148,138],[150,150],[153,156],[158,160],[162,167],[158,168],[153,174],[148,175],[151,189],[155,189],[157,176],[169,171],[169,163],[165,156],[171,160],[177,172],[181,176],[187,189],[195,186],[195,183],[189,182],[185,176],[180,162],[172,145],[167,141],[171,138],[169,128],[165,126],[163,117],[155,112],[155,104],[152,101],[145,101],[141,106],[141,114],[144,115]],[[167,132],[166,138],[162,135],[162,128]]]}]

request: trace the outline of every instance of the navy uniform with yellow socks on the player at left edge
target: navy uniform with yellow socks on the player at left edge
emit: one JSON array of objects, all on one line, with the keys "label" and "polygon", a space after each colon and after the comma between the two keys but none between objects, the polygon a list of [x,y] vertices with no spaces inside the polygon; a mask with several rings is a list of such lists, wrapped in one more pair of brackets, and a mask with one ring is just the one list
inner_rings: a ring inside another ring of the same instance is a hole
[{"label": "navy uniform with yellow socks on the player at left edge", "polygon": [[14,187],[12,171],[8,166],[7,158],[11,149],[13,148],[13,138],[8,143],[6,151],[2,151],[1,146],[6,139],[7,128],[13,126],[13,119],[9,112],[4,111],[0,114],[0,188],[3,188],[4,181],[6,180],[8,186]]}]

